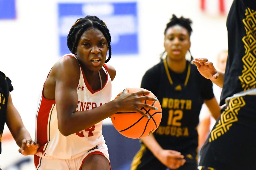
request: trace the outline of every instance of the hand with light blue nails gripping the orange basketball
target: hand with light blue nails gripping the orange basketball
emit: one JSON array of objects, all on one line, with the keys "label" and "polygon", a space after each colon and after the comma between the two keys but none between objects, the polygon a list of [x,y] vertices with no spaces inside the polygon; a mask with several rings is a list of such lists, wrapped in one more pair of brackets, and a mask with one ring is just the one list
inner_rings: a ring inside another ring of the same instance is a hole
[{"label": "hand with light blue nails gripping the orange basketball", "polygon": [[[150,94],[150,91],[148,90],[140,90],[138,92],[134,93],[128,93],[129,88],[125,88],[122,92],[122,94],[115,99],[116,105],[118,107],[118,112],[138,112],[145,116],[146,118],[150,118],[147,116],[140,108],[149,108],[153,110],[157,110],[158,108],[141,103],[143,100],[150,100],[150,101],[157,101],[157,98],[146,96],[147,94]],[[145,96],[141,96],[141,95]]]}]

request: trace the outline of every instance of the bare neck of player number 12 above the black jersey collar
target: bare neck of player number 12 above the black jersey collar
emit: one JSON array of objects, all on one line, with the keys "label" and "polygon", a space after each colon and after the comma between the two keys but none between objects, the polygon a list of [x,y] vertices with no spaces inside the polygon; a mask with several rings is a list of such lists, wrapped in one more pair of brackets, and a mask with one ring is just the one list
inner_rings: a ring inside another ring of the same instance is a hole
[{"label": "bare neck of player number 12 above the black jersey collar", "polygon": [[183,73],[186,69],[186,59],[171,60],[169,57],[167,57],[167,65],[175,73]]}]

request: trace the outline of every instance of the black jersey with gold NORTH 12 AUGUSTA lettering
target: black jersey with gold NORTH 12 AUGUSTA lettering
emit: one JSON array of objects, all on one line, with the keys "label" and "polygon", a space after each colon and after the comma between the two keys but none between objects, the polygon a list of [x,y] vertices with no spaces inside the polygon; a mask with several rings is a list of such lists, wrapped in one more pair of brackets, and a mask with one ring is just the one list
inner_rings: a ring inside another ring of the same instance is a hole
[{"label": "black jersey with gold NORTH 12 AUGUSTA lettering", "polygon": [[189,61],[177,74],[163,60],[146,71],[141,87],[153,92],[161,104],[162,120],[153,135],[162,148],[196,149],[199,112],[203,101],[214,97],[211,81]]}]

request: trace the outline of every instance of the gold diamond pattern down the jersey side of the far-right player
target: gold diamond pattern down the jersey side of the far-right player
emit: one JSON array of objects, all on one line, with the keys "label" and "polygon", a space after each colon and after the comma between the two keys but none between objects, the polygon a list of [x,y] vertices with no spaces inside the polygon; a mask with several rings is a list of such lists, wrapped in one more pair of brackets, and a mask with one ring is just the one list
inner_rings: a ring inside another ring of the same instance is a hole
[{"label": "gold diamond pattern down the jersey side of the far-right player", "polygon": [[242,38],[245,44],[244,65],[242,75],[238,77],[244,91],[256,87],[256,11],[247,8],[245,16],[246,35]]}]

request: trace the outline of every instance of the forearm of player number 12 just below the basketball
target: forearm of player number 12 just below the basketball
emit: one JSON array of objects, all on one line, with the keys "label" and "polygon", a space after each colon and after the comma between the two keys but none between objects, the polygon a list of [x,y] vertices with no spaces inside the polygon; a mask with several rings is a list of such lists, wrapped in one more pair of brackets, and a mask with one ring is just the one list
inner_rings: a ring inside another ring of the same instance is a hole
[{"label": "forearm of player number 12 just below the basketball", "polygon": [[147,148],[149,148],[149,150],[153,153],[155,157],[158,157],[159,151],[163,149],[155,140],[153,134],[150,134],[149,136],[142,138],[141,141],[147,146]]}]

